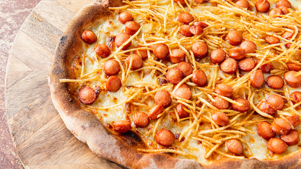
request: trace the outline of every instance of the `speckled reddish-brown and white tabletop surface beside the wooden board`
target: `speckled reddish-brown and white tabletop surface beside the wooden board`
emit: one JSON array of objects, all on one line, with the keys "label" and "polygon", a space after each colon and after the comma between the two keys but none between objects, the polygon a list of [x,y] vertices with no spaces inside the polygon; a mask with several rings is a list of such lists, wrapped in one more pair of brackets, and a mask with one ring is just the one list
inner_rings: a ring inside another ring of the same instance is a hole
[{"label": "speckled reddish-brown and white tabletop surface beside the wooden board", "polygon": [[0,0],[0,168],[23,168],[11,140],[5,114],[4,83],[8,55],[15,36],[41,0]]}]

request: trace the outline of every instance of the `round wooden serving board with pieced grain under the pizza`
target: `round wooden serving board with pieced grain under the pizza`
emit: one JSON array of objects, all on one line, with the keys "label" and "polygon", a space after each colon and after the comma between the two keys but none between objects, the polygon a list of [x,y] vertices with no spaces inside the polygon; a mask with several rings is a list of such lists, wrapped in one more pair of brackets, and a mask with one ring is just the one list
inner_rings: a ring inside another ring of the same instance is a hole
[{"label": "round wooden serving board with pieced grain under the pizza", "polygon": [[[47,75],[69,21],[92,0],[43,0],[21,26],[5,78],[8,125],[26,169],[124,168],[77,140],[54,109]],[[39,19],[35,19],[36,16]]]}]

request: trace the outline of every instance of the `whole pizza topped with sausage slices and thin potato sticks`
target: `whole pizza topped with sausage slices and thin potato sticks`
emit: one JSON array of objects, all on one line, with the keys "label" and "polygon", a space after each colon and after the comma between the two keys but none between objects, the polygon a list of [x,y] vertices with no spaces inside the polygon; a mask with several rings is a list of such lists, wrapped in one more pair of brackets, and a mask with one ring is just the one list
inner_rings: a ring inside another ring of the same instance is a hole
[{"label": "whole pizza topped with sausage slices and thin potato sticks", "polygon": [[48,76],[66,127],[129,168],[299,168],[295,0],[95,1]]}]

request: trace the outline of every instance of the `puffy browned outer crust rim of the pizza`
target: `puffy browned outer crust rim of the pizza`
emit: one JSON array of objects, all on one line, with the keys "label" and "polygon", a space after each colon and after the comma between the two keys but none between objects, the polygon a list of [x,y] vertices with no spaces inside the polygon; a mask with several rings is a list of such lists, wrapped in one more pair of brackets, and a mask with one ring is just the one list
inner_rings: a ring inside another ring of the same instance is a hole
[{"label": "puffy browned outer crust rim of the pizza", "polygon": [[187,159],[174,158],[168,153],[144,153],[137,148],[146,148],[136,132],[113,134],[93,114],[84,111],[75,95],[73,83],[60,82],[59,79],[73,79],[71,62],[80,52],[80,34],[98,19],[108,17],[112,12],[108,7],[123,5],[122,0],[95,1],[82,8],[70,21],[57,44],[54,63],[48,75],[51,98],[66,127],[80,141],[87,143],[97,155],[125,167],[138,169],[171,168],[283,168],[301,167],[301,150],[280,160],[225,159],[202,166]]}]

